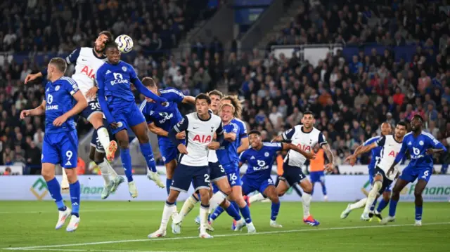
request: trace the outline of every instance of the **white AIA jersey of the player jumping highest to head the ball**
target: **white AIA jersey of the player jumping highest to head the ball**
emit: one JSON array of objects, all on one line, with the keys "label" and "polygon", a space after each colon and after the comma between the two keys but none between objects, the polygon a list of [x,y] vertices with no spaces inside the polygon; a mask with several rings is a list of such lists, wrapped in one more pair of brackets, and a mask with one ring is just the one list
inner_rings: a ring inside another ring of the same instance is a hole
[{"label": "white AIA jersey of the player jumping highest to head the ball", "polygon": [[[65,61],[68,64],[75,63],[75,74],[72,75],[72,79],[77,81],[79,90],[86,96],[87,91],[95,86],[97,70],[106,61],[106,57],[98,58],[94,48],[82,47],[70,53]],[[88,102],[91,100],[88,99]]]}]

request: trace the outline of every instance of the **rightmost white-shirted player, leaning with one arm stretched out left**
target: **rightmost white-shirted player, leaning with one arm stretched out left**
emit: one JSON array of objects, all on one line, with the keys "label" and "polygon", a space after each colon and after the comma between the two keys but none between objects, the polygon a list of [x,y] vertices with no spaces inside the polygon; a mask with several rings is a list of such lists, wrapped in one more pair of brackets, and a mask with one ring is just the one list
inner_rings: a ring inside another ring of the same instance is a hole
[{"label": "rightmost white-shirted player, leaning with one arm stretched out left", "polygon": [[[395,127],[394,135],[383,135],[378,138],[376,142],[373,142],[371,145],[366,145],[364,147],[359,148],[352,155],[353,157],[358,157],[359,154],[363,154],[369,152],[377,147],[381,147],[380,159],[375,164],[375,175],[373,175],[373,184],[371,191],[368,194],[366,207],[364,208],[364,212],[361,215],[361,220],[370,220],[370,214],[377,216],[380,220],[381,213],[378,211],[373,212],[373,202],[383,194],[387,188],[390,187],[392,181],[397,177],[398,169],[395,167],[395,171],[387,175],[387,171],[390,168],[390,165],[394,161],[397,153],[399,153],[401,148],[401,141],[406,134],[406,123],[404,121],[400,121]],[[346,159],[347,160],[347,159]]]}]

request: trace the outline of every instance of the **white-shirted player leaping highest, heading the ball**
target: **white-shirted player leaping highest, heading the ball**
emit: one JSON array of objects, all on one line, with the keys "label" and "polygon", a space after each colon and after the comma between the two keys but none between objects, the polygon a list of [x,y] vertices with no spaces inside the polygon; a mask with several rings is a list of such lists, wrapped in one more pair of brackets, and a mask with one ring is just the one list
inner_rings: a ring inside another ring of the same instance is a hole
[{"label": "white-shirted player leaping highest, heading the ball", "polygon": [[[101,192],[102,199],[106,199],[111,192],[115,192],[124,181],[124,178],[118,176],[108,162],[108,160],[114,159],[117,142],[110,141],[108,129],[103,126],[103,112],[101,112],[96,98],[98,88],[95,84],[95,76],[97,69],[106,61],[103,54],[105,43],[113,40],[113,34],[103,31],[98,34],[96,41],[94,41],[94,48],[77,48],[65,58],[68,64],[75,64],[75,74],[72,75],[72,79],[77,81],[79,91],[88,101],[88,106],[82,111],[81,115],[96,129],[91,139],[89,158],[101,168],[101,175],[105,183],[103,192]],[[25,78],[25,84],[28,81],[46,76],[47,72],[48,70],[44,69],[37,74],[29,74]],[[105,156],[108,160],[105,159]],[[110,180],[110,178],[113,180]]]}]

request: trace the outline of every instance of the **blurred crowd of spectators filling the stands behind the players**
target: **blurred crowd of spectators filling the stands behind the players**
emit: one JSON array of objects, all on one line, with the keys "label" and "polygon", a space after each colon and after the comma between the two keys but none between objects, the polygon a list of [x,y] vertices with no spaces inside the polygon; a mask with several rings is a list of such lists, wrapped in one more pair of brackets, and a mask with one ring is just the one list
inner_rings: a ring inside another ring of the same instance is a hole
[{"label": "blurred crowd of spectators filling the stands behind the players", "polygon": [[[193,39],[175,57],[172,48],[227,3],[207,0],[3,1],[0,51],[0,164],[40,165],[44,118],[19,120],[21,110],[37,107],[40,82],[23,85],[56,55],[91,46],[109,29],[129,34],[134,51],[122,57],[139,77],[153,77],[161,88],[186,95],[219,88],[243,100],[248,128],[270,140],[300,124],[302,112],[316,115],[316,128],[328,138],[338,164],[365,140],[414,114],[425,131],[450,144],[450,18],[446,1],[298,1],[288,22],[267,34],[263,46],[238,49],[217,37]],[[229,4],[229,3],[228,3]],[[284,1],[291,6],[293,1]],[[274,46],[340,44],[319,62],[276,54]],[[383,47],[380,47],[383,46]],[[399,46],[413,51],[400,53]],[[352,48],[350,50],[349,48]],[[380,49],[382,48],[382,49]],[[71,69],[68,71],[70,75]],[[136,95],[136,102],[142,99]],[[183,107],[187,112],[191,107]],[[79,134],[89,124],[79,123]],[[436,157],[448,163],[448,155]],[[367,164],[368,156],[359,162]],[[444,170],[444,169],[443,169]],[[444,170],[446,171],[446,170]]]}]

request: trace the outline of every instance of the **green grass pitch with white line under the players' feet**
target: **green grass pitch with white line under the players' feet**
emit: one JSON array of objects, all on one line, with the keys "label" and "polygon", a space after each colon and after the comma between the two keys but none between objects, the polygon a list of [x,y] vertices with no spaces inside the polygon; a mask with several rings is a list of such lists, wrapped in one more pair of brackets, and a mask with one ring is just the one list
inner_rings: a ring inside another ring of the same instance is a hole
[{"label": "green grass pitch with white line under the players' feet", "polygon": [[[181,202],[179,202],[181,208]],[[257,234],[231,231],[224,213],[215,223],[214,239],[198,238],[196,207],[183,223],[182,234],[148,239],[158,229],[163,202],[84,201],[74,233],[54,230],[56,206],[51,201],[0,201],[2,251],[450,251],[450,204],[425,202],[423,226],[414,227],[413,203],[400,203],[397,220],[387,226],[359,220],[362,209],[345,220],[345,203],[312,202],[321,225],[302,222],[301,202],[281,202],[278,223],[269,227],[270,204],[252,204]],[[387,209],[385,209],[385,215]],[[66,223],[66,225],[68,222]]]}]

